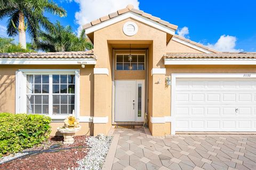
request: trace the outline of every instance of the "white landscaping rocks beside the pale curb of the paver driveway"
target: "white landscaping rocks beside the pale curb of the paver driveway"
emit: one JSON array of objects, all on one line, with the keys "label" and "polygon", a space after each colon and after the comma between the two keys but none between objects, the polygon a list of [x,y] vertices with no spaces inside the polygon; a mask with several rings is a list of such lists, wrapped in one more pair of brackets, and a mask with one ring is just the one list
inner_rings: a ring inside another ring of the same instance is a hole
[{"label": "white landscaping rocks beside the pale curb of the paver driveway", "polygon": [[77,162],[79,167],[75,169],[100,170],[105,162],[112,139],[113,137],[108,137],[103,134],[89,138],[87,143],[91,149],[84,159]]}]

